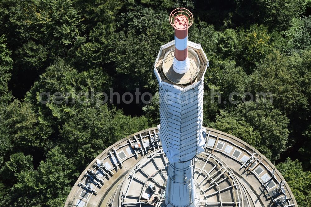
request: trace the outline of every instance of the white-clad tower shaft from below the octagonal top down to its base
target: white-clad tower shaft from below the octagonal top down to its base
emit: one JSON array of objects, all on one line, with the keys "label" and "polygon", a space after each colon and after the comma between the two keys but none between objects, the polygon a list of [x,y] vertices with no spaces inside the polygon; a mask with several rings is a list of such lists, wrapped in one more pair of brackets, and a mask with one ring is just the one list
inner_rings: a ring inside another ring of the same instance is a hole
[{"label": "white-clad tower shaft from below the octagonal top down to its base", "polygon": [[187,91],[162,84],[160,138],[169,160],[166,188],[168,207],[196,206],[193,159],[204,151],[202,136],[203,82]]}]

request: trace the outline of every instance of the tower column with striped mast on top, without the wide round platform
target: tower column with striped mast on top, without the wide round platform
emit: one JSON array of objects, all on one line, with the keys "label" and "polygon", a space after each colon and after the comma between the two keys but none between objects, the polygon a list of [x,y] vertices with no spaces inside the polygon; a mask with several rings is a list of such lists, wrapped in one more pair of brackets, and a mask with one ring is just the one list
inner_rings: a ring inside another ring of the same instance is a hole
[{"label": "tower column with striped mast on top, without the wide round platform", "polygon": [[197,206],[193,165],[205,146],[203,78],[208,60],[200,44],[188,41],[192,13],[177,8],[169,21],[175,29],[175,40],[162,45],[154,70],[160,85],[159,136],[169,161],[164,205]]}]

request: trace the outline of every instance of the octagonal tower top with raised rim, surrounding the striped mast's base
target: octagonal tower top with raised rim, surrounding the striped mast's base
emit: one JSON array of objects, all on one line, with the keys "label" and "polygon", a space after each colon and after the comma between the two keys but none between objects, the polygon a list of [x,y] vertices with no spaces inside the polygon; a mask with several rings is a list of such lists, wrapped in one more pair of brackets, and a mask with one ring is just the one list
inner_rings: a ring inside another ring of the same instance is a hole
[{"label": "octagonal tower top with raised rim, surrounding the striped mast's base", "polygon": [[208,67],[207,57],[201,47],[201,44],[196,44],[188,41],[188,58],[190,59],[190,68],[184,74],[176,73],[173,70],[174,59],[174,43],[171,41],[162,45],[154,65],[155,74],[159,85],[163,83],[176,85],[185,88],[202,80]]}]

